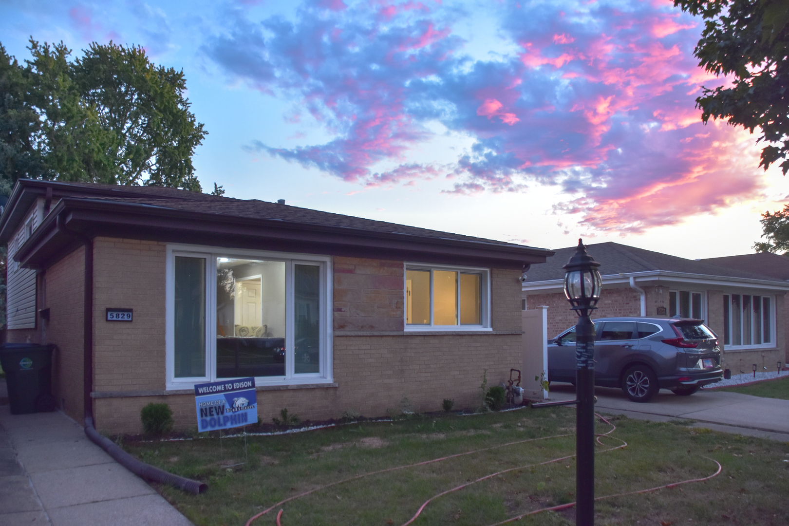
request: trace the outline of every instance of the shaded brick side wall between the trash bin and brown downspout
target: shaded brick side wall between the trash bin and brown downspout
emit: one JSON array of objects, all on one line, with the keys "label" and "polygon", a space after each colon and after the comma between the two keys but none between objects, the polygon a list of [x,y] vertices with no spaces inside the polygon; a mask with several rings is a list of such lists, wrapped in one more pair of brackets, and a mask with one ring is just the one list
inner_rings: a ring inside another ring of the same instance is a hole
[{"label": "shaded brick side wall between the trash bin and brown downspout", "polygon": [[43,276],[44,308],[50,309],[42,343],[54,343],[52,390],[65,414],[77,422],[84,417],[84,247],[55,263]]}]

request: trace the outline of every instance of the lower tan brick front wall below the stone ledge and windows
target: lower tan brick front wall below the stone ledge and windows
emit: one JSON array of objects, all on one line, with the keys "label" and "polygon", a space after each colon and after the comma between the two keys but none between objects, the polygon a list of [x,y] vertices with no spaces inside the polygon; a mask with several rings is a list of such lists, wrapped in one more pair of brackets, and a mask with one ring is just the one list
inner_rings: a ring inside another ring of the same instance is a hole
[{"label": "lower tan brick front wall below the stone ledge and windows", "polygon": [[[454,398],[455,408],[476,408],[484,369],[495,386],[521,360],[519,334],[337,337],[338,387],[258,391],[258,415],[267,423],[282,408],[302,420],[339,418],[346,410],[383,416],[399,412],[403,397],[417,412],[439,411],[444,398]],[[184,394],[96,399],[99,431],[140,432],[140,409],[151,402],[170,405],[176,427],[196,427],[194,396]]]}]

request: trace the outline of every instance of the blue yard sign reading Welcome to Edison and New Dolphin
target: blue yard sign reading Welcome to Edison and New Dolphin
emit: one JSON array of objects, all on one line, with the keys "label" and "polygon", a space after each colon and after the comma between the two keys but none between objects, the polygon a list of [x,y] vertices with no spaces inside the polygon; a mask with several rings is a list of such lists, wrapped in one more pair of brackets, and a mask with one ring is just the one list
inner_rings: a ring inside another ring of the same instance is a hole
[{"label": "blue yard sign reading Welcome to Edison and New Dolphin", "polygon": [[254,378],[195,385],[197,431],[216,431],[257,423]]}]

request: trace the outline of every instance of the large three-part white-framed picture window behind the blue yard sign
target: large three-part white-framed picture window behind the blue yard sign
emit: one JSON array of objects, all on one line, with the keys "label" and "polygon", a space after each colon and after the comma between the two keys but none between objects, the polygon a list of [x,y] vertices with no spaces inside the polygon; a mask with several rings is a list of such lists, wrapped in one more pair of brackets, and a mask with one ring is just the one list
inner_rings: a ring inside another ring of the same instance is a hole
[{"label": "large three-part white-framed picture window behind the blue yard sign", "polygon": [[168,248],[168,384],[331,377],[328,259]]}]

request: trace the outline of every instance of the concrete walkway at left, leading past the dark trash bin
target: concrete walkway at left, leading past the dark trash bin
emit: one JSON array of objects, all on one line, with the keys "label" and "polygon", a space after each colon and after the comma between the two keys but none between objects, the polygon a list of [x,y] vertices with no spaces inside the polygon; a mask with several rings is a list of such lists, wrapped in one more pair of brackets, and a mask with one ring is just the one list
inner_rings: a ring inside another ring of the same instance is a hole
[{"label": "concrete walkway at left, leading past the dark trash bin", "polygon": [[62,412],[12,415],[0,405],[0,524],[192,523]]}]

